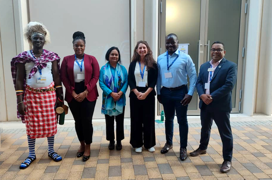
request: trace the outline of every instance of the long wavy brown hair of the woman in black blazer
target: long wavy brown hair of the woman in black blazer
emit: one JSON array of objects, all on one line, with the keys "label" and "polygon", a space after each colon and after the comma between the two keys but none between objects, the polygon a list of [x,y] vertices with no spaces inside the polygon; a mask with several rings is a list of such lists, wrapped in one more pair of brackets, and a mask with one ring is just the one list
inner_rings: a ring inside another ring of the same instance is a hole
[{"label": "long wavy brown hair of the woman in black blazer", "polygon": [[155,66],[157,66],[156,64],[156,61],[154,60],[153,58],[153,55],[152,55],[152,51],[150,50],[150,47],[148,45],[148,43],[146,41],[138,41],[135,48],[134,48],[134,52],[133,52],[133,56],[132,56],[132,61],[136,60],[136,61],[139,61],[140,60],[140,55],[137,53],[137,48],[139,46],[139,44],[144,44],[147,48],[147,54],[145,55],[145,66],[147,67],[147,69],[150,69],[150,68],[155,68]]}]

